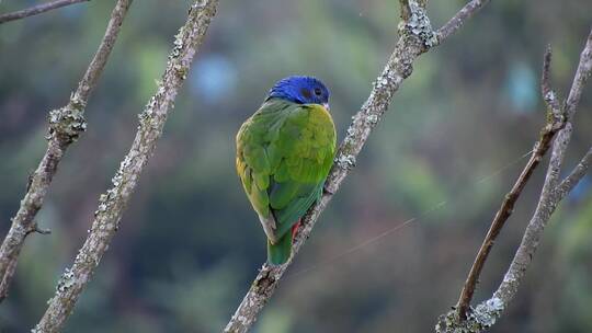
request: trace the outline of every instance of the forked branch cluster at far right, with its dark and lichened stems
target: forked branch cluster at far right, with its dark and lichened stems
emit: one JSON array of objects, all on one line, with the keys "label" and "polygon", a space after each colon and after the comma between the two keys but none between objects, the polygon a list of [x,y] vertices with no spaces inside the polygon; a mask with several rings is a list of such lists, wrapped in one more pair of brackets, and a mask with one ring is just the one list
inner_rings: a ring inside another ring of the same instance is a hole
[{"label": "forked branch cluster at far right, with its dark and lichened stems", "polygon": [[[588,36],[587,44],[581,53],[580,62],[573,78],[571,90],[568,99],[563,103],[559,103],[557,94],[550,88],[549,68],[550,68],[551,51],[547,48],[544,57],[543,74],[542,74],[542,94],[547,104],[547,124],[542,129],[540,138],[535,145],[535,150],[531,160],[522,171],[511,193],[512,196],[506,196],[493,222],[489,229],[486,239],[475,259],[475,263],[470,269],[467,280],[460,292],[460,297],[453,311],[440,317],[435,326],[439,333],[477,333],[481,332],[496,323],[496,320],[501,317],[503,310],[508,308],[509,302],[517,292],[520,283],[526,274],[533,255],[538,246],[540,237],[548,223],[550,216],[559,205],[560,200],[576,186],[581,177],[588,171],[592,162],[592,148],[582,158],[580,163],[573,171],[561,182],[559,182],[559,173],[563,162],[563,157],[567,151],[569,140],[572,134],[571,118],[576,112],[577,105],[582,93],[583,85],[592,73],[592,31]],[[554,139],[555,138],[555,139]],[[479,303],[476,308],[470,307],[470,301],[480,275],[480,272],[487,260],[487,255],[493,242],[501,231],[503,223],[510,216],[515,199],[520,196],[521,190],[530,179],[530,174],[542,160],[545,152],[553,143],[553,153],[547,168],[545,183],[538,199],[537,207],[526,230],[522,242],[512,260],[508,272],[505,273],[502,283],[493,292],[493,296],[488,300]],[[513,200],[512,200],[513,199]],[[505,211],[505,213],[504,213]],[[502,218],[500,218],[502,217]]]}]

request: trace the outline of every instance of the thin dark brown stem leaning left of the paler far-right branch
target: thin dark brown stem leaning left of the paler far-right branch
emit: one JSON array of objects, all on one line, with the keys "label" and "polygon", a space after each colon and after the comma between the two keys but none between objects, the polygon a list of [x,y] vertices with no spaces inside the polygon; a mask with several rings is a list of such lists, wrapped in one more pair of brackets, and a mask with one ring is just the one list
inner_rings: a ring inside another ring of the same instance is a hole
[{"label": "thin dark brown stem leaning left of the paler far-right branch", "polygon": [[491,227],[489,228],[489,231],[487,232],[487,236],[483,239],[481,248],[479,249],[479,252],[477,253],[477,256],[475,257],[475,262],[473,263],[473,266],[470,267],[470,272],[467,276],[467,280],[465,282],[465,285],[463,286],[463,290],[460,291],[460,297],[458,298],[458,303],[456,306],[457,311],[458,311],[458,317],[462,320],[467,319],[467,310],[469,309],[473,295],[475,294],[477,282],[479,280],[479,276],[481,275],[481,271],[483,269],[485,263],[489,256],[489,252],[491,251],[493,243],[496,242],[496,239],[500,234],[500,231],[505,225],[505,221],[508,220],[508,218],[510,218],[510,216],[512,215],[512,211],[514,210],[514,205],[516,204],[516,200],[522,194],[522,190],[524,190],[534,170],[540,163],[540,160],[543,159],[545,153],[547,153],[547,150],[550,148],[553,137],[566,124],[565,116],[561,114],[561,111],[559,110],[559,104],[557,102],[555,93],[550,89],[550,83],[549,83],[550,59],[551,59],[551,51],[549,47],[547,48],[547,51],[545,53],[545,57],[543,61],[543,76],[542,76],[542,83],[540,83],[543,96],[545,97],[549,106],[547,124],[540,130],[540,137],[534,146],[535,148],[533,150],[533,154],[531,156],[531,159],[528,160],[528,162],[526,163],[526,165],[520,173],[510,193],[505,195],[500,209],[496,214],[493,221],[491,221]]}]

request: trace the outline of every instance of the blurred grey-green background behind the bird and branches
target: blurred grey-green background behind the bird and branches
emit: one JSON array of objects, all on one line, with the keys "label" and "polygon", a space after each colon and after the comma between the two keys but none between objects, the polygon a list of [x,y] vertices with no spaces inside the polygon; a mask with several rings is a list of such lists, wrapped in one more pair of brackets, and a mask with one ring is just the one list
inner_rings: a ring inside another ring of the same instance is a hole
[{"label": "blurred grey-green background behind the bird and branches", "polygon": [[[2,236],[45,150],[47,113],[67,102],[114,2],[0,26]],[[234,170],[238,127],[275,80],[306,73],[330,87],[343,138],[397,38],[395,0],[220,2],[122,228],[65,332],[221,331],[265,259],[264,234]],[[34,3],[3,0],[0,12]],[[53,233],[27,240],[0,306],[1,332],[25,332],[45,311],[130,146],[189,4],[133,4],[88,105],[88,131],[68,151],[38,215]],[[463,4],[432,1],[432,23],[441,26]],[[591,22],[587,0],[493,1],[422,56],[253,332],[430,332],[457,300],[544,123],[546,44],[565,96]],[[591,107],[588,87],[568,168],[592,142]],[[503,230],[477,300],[505,272],[543,174],[539,168]],[[588,176],[558,209],[516,300],[491,332],[592,331],[591,187]]]}]

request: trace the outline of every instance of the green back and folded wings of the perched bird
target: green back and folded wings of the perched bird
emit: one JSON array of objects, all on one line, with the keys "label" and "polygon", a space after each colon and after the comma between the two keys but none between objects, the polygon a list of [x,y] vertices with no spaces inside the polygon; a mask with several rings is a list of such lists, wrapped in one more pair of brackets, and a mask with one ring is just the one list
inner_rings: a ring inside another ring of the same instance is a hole
[{"label": "green back and folded wings of the perched bird", "polygon": [[318,104],[270,100],[237,136],[237,170],[260,218],[272,216],[277,239],[322,194],[335,152],[331,116]]}]

